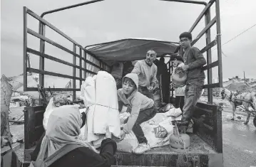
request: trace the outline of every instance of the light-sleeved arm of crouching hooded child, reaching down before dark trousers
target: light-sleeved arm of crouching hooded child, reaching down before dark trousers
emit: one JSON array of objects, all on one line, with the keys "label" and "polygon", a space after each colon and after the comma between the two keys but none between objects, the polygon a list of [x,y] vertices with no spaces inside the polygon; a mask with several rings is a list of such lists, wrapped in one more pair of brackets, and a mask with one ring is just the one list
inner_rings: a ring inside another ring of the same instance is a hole
[{"label": "light-sleeved arm of crouching hooded child, reaching down before dark trousers", "polygon": [[140,105],[140,99],[133,99],[133,106],[130,112],[130,117],[128,118],[126,125],[123,127],[123,131],[125,131],[126,134],[130,133],[130,131],[133,129],[133,125],[135,124],[138,118],[138,114],[140,113]]}]

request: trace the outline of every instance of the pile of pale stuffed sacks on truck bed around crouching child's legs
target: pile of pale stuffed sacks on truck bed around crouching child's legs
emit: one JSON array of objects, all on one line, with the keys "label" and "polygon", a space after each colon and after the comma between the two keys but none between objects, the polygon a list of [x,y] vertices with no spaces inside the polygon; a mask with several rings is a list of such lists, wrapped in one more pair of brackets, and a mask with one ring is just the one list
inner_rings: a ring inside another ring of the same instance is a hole
[{"label": "pile of pale stuffed sacks on truck bed around crouching child's legs", "polygon": [[[126,109],[127,107],[123,107],[120,114],[121,127],[126,124],[130,116],[130,114],[126,112]],[[155,117],[148,120],[148,122],[140,124],[151,149],[169,144],[169,136],[173,133],[173,125],[171,122],[180,120],[181,114],[180,108],[176,109],[172,106],[168,112],[155,114]],[[126,134],[122,141],[117,143],[118,151],[133,153],[138,144],[135,134],[131,131],[129,134]]]}]

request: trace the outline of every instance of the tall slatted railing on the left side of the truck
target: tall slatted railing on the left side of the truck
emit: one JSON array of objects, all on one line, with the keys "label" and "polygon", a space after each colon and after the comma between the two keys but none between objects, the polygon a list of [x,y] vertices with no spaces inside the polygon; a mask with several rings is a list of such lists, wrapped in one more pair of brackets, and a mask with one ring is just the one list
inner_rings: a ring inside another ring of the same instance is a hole
[{"label": "tall slatted railing on the left side of the truck", "polygon": [[[39,33],[31,30],[27,27],[27,15],[32,16],[33,18],[36,18],[36,20],[39,21]],[[52,41],[49,38],[46,38],[45,31],[46,26],[48,28],[51,28],[53,31],[56,31],[58,34],[66,38],[68,41],[73,43],[73,50],[70,50],[68,48],[63,47],[59,43],[56,43]],[[40,50],[34,50],[32,48],[29,48],[27,46],[27,35],[31,34],[32,36],[35,36],[36,38],[40,39]],[[53,55],[48,55],[45,53],[45,43],[49,43],[56,48],[59,48],[66,53],[69,53],[73,55],[73,63],[68,63],[64,60],[61,60],[60,58],[56,58]],[[77,49],[79,51],[79,54],[77,54]],[[39,69],[29,68],[28,67],[28,53],[38,55],[40,57],[39,61]],[[76,58],[79,58],[79,63],[76,63]],[[63,75],[56,72],[50,72],[44,70],[45,63],[44,60],[53,60],[55,62],[61,63],[63,65],[68,65],[70,67],[73,67],[73,76],[71,75]],[[76,65],[79,64],[79,65]],[[76,77],[76,69],[79,70],[79,77]],[[106,63],[102,62],[101,60],[98,60],[95,55],[91,54],[83,48],[81,45],[76,43],[76,41],[73,41],[70,37],[66,36],[65,33],[58,30],[55,26],[53,26],[51,23],[48,23],[45,19],[41,18],[37,14],[35,14],[33,11],[27,9],[24,6],[24,91],[37,91],[37,87],[28,87],[27,85],[27,72],[35,72],[39,74],[39,84],[41,86],[44,86],[44,75],[51,75],[56,77],[64,77],[69,78],[73,80],[73,88],[51,88],[51,91],[73,91],[73,100],[76,98],[76,91],[80,91],[80,89],[76,88],[76,80],[80,81],[80,86],[82,84],[82,81],[86,79],[86,77],[91,75],[96,75],[99,70],[110,70],[110,67],[106,65]],[[80,87],[81,88],[81,87]],[[48,90],[48,88],[46,88]]]}]

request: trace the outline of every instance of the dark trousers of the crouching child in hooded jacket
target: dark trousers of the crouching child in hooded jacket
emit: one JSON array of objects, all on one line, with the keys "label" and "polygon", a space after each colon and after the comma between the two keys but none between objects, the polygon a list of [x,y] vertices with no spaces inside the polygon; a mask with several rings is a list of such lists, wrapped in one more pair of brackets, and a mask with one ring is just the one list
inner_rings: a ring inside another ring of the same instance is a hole
[{"label": "dark trousers of the crouching child in hooded jacket", "polygon": [[140,114],[138,114],[138,118],[133,125],[133,133],[135,134],[136,138],[138,139],[138,143],[142,144],[148,144],[148,140],[145,138],[144,132],[140,126],[143,122],[147,122],[149,119],[155,117],[156,109],[155,106],[145,109],[143,111],[140,111]]}]

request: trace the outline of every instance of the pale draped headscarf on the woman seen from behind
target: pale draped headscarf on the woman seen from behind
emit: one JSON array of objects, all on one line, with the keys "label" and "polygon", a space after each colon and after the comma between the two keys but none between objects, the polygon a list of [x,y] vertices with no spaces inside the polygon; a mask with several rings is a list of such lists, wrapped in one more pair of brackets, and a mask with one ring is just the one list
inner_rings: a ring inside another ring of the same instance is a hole
[{"label": "pale draped headscarf on the woman seen from behind", "polygon": [[78,139],[81,125],[81,114],[77,106],[65,105],[54,109],[48,119],[46,136],[43,137],[36,161],[43,161],[66,144],[81,144],[98,153],[91,144]]}]

